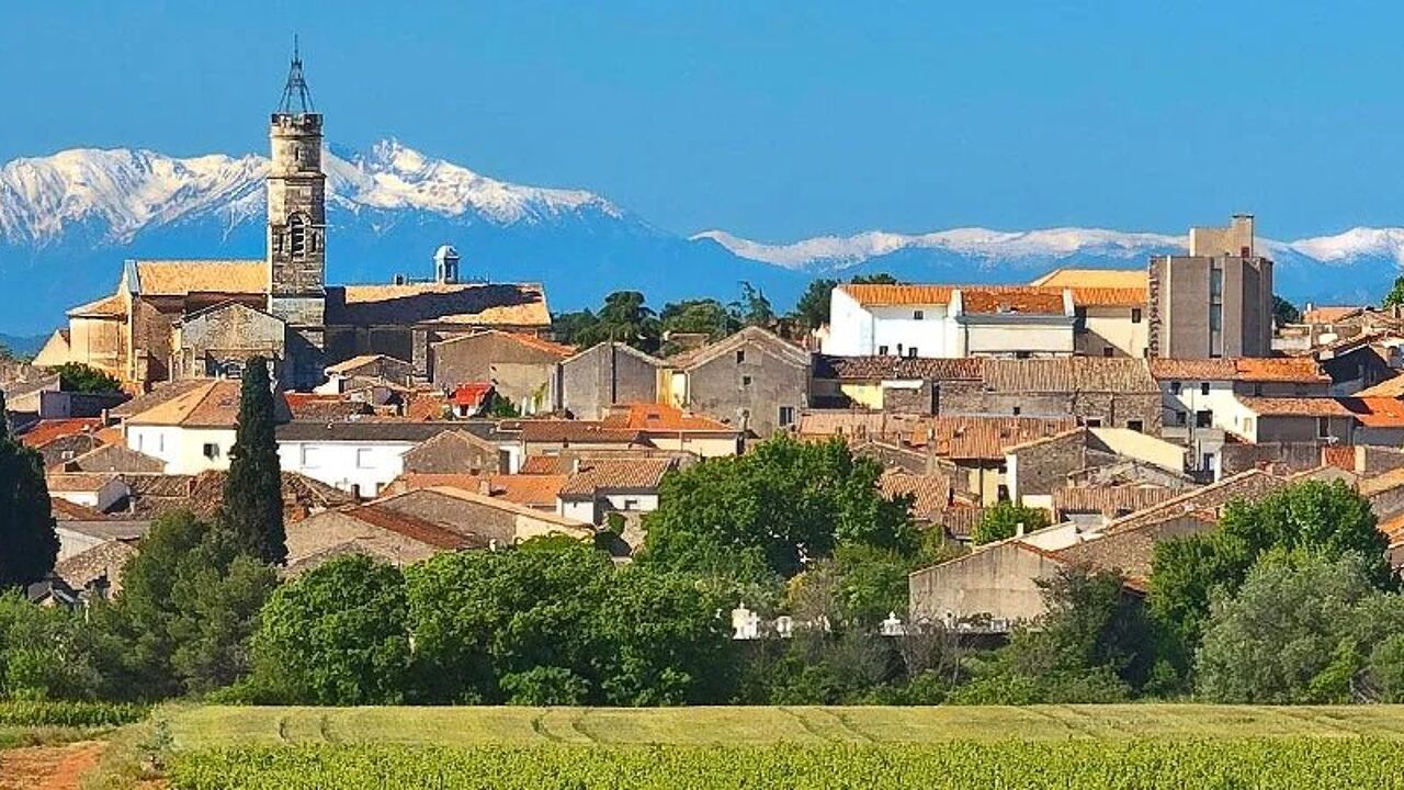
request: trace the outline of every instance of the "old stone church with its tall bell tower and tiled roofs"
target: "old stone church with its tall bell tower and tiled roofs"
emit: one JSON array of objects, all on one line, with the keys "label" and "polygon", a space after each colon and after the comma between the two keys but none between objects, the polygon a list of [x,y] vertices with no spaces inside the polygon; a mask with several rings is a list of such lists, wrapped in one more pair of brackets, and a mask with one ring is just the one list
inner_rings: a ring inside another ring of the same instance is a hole
[{"label": "old stone church with its tall bell tower and tiled roofs", "polygon": [[[482,329],[542,336],[539,284],[461,283],[441,246],[432,280],[327,285],[327,194],[322,114],[295,53],[268,125],[268,228],[263,260],[128,260],[117,292],[69,311],[35,358],[77,361],[135,388],[177,378],[237,377],[270,357],[286,388],[310,388],[336,363],[386,354],[428,377],[431,343]],[[425,268],[428,268],[425,266]]]}]

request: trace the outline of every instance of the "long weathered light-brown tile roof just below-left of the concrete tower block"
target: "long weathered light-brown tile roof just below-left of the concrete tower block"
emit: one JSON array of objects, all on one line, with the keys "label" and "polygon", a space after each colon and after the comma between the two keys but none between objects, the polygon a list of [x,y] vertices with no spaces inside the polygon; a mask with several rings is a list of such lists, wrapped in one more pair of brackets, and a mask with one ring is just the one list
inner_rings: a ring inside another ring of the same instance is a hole
[{"label": "long weathered light-brown tile roof just below-left of the concrete tower block", "polygon": [[986,360],[991,392],[1160,392],[1146,360],[1060,357]]}]

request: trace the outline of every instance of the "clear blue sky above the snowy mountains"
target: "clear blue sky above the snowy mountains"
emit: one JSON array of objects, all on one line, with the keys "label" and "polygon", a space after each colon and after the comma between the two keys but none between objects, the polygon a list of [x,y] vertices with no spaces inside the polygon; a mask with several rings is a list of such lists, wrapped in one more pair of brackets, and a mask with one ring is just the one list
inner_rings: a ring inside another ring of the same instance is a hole
[{"label": "clear blue sky above the snowy mountains", "polygon": [[1404,224],[1404,7],[0,6],[0,159],[264,149],[292,34],[329,136],[397,136],[678,232]]}]

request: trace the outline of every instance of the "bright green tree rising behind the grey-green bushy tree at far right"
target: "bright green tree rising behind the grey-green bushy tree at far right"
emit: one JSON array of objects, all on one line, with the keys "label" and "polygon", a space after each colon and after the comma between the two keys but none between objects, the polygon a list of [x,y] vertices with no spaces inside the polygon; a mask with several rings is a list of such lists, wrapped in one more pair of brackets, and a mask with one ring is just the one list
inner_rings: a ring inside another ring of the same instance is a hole
[{"label": "bright green tree rising behind the grey-green bushy tree at far right", "polygon": [[1265,552],[1352,552],[1369,558],[1369,578],[1386,589],[1393,585],[1387,547],[1370,503],[1342,482],[1307,481],[1257,500],[1234,500],[1214,530],[1155,545],[1151,613],[1174,641],[1167,645],[1172,661],[1188,669],[1213,592],[1233,595]]}]

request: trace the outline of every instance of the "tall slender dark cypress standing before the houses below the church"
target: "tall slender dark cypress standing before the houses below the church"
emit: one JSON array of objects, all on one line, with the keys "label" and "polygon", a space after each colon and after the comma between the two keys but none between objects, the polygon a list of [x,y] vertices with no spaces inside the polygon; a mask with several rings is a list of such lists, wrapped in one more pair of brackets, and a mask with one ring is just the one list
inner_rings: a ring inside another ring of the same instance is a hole
[{"label": "tall slender dark cypress standing before the houses below the church", "polygon": [[282,524],[282,471],[274,439],[268,363],[250,357],[239,395],[239,427],[229,451],[220,524],[237,545],[274,565],[288,561]]}]

